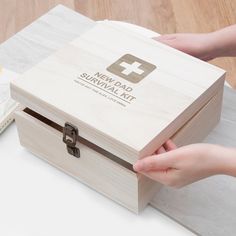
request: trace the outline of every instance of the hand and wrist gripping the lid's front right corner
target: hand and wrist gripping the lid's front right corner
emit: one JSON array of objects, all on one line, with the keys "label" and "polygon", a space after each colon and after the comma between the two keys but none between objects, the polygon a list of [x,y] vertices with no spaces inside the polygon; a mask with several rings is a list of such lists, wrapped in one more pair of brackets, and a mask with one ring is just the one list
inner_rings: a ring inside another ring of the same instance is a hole
[{"label": "hand and wrist gripping the lid's front right corner", "polygon": [[157,154],[138,160],[134,170],[179,188],[216,174],[236,176],[236,150],[212,144],[176,148],[169,140]]}]

